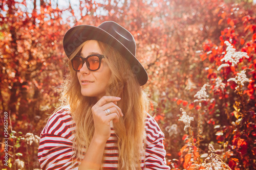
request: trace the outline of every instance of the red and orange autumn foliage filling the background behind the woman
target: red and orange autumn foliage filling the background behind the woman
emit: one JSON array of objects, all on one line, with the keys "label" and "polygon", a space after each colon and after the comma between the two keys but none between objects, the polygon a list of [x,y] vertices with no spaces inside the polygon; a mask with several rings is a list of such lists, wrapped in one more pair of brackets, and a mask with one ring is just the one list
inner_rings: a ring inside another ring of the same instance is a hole
[{"label": "red and orange autumn foliage filling the background behind the woman", "polygon": [[[137,58],[149,77],[143,86],[152,100],[149,112],[165,134],[168,165],[204,169],[196,165],[218,156],[231,169],[256,169],[255,4],[222,0],[77,3],[0,2],[0,113],[2,120],[4,112],[9,115],[8,168],[40,168],[40,132],[58,107],[68,72],[62,49],[65,32],[74,25],[98,26],[113,20],[136,39]],[[248,58],[236,65],[223,61],[225,41]],[[218,70],[224,63],[230,66]],[[248,81],[230,81],[241,71]],[[195,94],[204,85],[207,97],[200,101]],[[178,121],[180,108],[194,117],[185,131]],[[3,121],[0,125],[2,130]],[[4,159],[3,135],[0,142]],[[3,161],[0,166],[7,168]]]}]

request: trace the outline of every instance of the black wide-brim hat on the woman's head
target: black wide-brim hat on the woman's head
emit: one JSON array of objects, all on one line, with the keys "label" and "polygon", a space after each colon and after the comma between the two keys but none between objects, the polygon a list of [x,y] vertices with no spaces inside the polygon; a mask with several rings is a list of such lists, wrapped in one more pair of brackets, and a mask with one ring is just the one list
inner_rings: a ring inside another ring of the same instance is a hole
[{"label": "black wide-brim hat on the woman's head", "polygon": [[133,35],[114,21],[105,21],[98,27],[89,25],[69,29],[63,38],[63,47],[68,58],[84,41],[97,40],[109,44],[130,63],[133,73],[142,86],[147,82],[147,72],[136,56],[136,43]]}]

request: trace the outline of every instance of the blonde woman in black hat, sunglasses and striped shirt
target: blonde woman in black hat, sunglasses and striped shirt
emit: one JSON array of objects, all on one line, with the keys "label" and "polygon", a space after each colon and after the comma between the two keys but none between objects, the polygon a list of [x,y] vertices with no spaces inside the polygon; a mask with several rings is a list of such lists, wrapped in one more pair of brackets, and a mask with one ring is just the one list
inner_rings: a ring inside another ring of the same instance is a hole
[{"label": "blonde woman in black hat, sunglasses and striped shirt", "polygon": [[76,26],[63,47],[70,77],[41,132],[41,168],[169,169],[164,134],[146,113],[147,73],[131,33],[113,21]]}]

